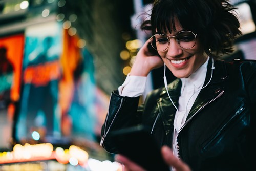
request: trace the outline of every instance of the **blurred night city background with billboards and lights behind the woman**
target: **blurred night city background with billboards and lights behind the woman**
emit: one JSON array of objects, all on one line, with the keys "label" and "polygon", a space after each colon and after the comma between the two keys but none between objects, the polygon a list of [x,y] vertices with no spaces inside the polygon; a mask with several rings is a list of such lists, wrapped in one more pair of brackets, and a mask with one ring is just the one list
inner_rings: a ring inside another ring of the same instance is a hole
[{"label": "blurred night city background with billboards and lights behind the woman", "polygon": [[[151,36],[140,30],[150,3],[0,0],[0,170],[121,170],[100,131]],[[243,35],[223,59],[256,59],[256,1],[231,3]],[[162,73],[152,71],[145,94],[163,86]]]}]

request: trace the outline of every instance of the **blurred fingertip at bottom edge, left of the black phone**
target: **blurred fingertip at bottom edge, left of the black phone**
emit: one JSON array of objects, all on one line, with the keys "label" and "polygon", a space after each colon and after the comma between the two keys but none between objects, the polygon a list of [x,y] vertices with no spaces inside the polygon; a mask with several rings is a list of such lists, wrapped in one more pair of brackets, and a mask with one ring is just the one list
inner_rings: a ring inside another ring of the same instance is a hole
[{"label": "blurred fingertip at bottom edge, left of the black phone", "polygon": [[131,171],[145,171],[145,169],[143,169],[141,166],[137,165],[136,163],[134,163],[133,161],[131,161],[130,159],[128,159],[125,156],[122,155],[116,155],[115,156],[115,160],[119,163],[122,163],[123,165],[125,165],[125,170],[131,170]]}]

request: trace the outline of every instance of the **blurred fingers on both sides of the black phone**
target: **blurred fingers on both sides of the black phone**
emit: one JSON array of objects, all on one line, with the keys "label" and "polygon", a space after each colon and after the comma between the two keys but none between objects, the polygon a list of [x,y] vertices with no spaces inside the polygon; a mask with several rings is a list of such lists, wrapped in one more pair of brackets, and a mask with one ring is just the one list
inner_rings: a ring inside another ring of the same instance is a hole
[{"label": "blurred fingers on both sides of the black phone", "polygon": [[[177,157],[173,155],[172,150],[167,147],[163,146],[161,149],[161,153],[163,156],[164,161],[170,166],[174,167],[176,171],[190,171],[191,169],[187,164],[185,164],[183,161],[179,160]],[[146,171],[133,161],[129,160],[125,156],[122,155],[116,155],[115,157],[117,162],[120,162],[124,165],[123,171]]]}]

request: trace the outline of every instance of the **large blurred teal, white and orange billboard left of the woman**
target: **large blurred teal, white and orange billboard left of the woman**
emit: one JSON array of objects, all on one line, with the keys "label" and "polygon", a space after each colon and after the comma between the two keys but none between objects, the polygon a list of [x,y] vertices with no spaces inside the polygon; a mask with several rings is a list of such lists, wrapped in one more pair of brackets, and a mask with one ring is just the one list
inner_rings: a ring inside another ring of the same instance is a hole
[{"label": "large blurred teal, white and orange billboard left of the woman", "polygon": [[78,41],[55,21],[26,28],[14,129],[18,143],[95,141],[92,55]]}]

